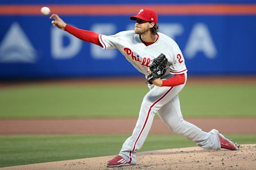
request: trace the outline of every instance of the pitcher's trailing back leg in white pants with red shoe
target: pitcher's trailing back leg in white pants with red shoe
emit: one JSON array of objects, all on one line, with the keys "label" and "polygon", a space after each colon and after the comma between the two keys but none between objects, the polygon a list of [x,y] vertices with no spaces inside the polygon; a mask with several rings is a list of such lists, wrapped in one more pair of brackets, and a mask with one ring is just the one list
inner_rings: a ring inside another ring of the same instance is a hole
[{"label": "pitcher's trailing back leg in white pants with red shoe", "polygon": [[223,137],[223,135],[221,135],[217,130],[212,130],[207,133],[199,129],[194,124],[183,120],[178,95],[159,109],[158,115],[171,131],[184,135],[204,149],[223,148],[221,145],[221,139],[219,139],[220,137],[225,140],[225,142],[229,142],[229,146],[224,146],[224,148],[231,150],[238,149],[233,142],[227,141],[228,139]]}]

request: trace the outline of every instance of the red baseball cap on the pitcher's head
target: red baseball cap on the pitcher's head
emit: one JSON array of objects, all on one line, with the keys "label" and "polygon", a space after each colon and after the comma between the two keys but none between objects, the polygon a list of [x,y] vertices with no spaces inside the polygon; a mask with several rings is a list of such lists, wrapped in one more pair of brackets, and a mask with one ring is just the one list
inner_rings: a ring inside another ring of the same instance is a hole
[{"label": "red baseball cap on the pitcher's head", "polygon": [[147,8],[141,9],[136,16],[130,16],[131,20],[136,20],[137,18],[144,21],[151,21],[155,24],[157,23],[156,12]]}]

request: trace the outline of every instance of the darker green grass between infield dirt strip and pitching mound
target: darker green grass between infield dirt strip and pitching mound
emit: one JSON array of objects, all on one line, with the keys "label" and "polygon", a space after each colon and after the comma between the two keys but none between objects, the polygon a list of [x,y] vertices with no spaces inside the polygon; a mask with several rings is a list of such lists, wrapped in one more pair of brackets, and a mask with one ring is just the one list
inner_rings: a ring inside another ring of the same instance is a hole
[{"label": "darker green grass between infield dirt strip and pitching mound", "polygon": [[[0,136],[0,167],[117,155],[129,135]],[[254,135],[227,135],[239,144],[256,143]],[[140,151],[195,147],[180,135],[149,135]]]}]

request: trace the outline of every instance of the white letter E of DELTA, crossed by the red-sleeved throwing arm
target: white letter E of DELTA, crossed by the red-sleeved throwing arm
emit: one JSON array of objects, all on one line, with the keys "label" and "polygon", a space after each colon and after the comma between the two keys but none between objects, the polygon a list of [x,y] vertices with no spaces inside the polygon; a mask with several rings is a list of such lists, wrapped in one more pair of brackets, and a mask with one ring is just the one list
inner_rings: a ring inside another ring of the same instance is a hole
[{"label": "white letter E of DELTA, crossed by the red-sleeved throwing arm", "polygon": [[[92,25],[91,30],[109,36],[116,33],[116,26],[110,23],[96,23]],[[91,55],[95,59],[112,59],[116,54],[116,50],[106,50],[98,45],[91,44]]]}]

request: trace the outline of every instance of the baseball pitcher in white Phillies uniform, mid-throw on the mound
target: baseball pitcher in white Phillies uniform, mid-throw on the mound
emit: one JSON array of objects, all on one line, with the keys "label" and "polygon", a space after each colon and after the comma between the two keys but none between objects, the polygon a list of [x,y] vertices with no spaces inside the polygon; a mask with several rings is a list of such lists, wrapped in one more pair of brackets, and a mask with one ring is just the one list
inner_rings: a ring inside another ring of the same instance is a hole
[{"label": "baseball pitcher in white Phillies uniform, mid-throw on the mound", "polygon": [[119,155],[107,162],[108,167],[135,165],[136,152],[147,138],[155,114],[173,132],[194,141],[204,149],[238,150],[231,140],[213,129],[204,132],[197,126],[183,120],[178,94],[187,81],[185,59],[177,43],[158,32],[157,14],[144,8],[137,15],[134,30],[122,31],[116,35],[99,35],[96,32],[77,29],[52,14],[52,24],[79,39],[101,46],[104,49],[118,49],[125,58],[146,77],[149,92],[143,98],[135,128],[124,143]]}]

